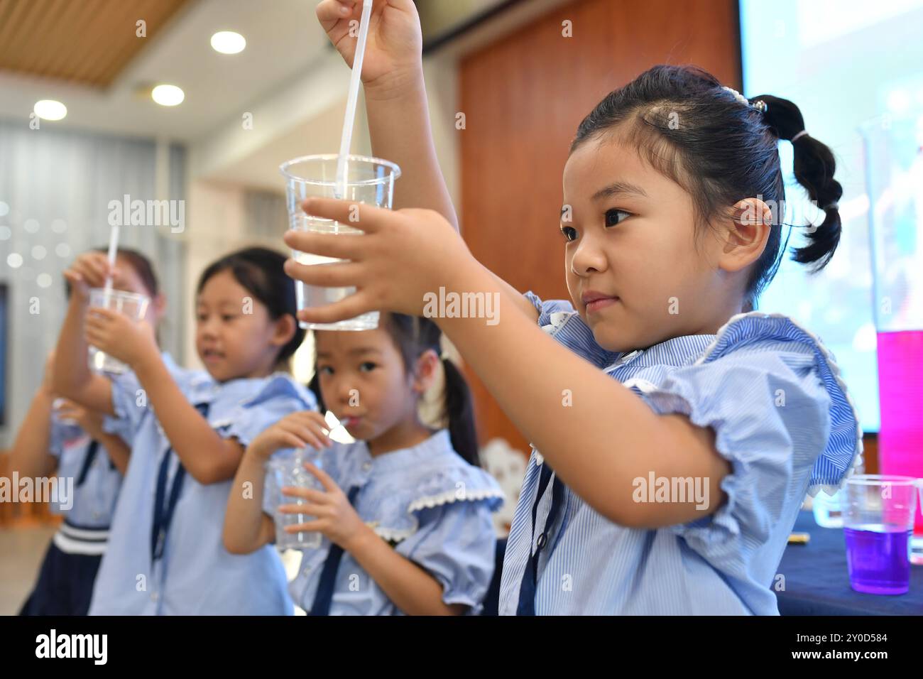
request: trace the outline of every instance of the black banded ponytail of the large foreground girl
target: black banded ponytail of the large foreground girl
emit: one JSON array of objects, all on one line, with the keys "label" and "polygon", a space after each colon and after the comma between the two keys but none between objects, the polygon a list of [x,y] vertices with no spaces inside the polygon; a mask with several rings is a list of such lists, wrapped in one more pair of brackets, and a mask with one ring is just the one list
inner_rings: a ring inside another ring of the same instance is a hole
[{"label": "black banded ponytail of the large foreground girl", "polygon": [[813,200],[824,213],[821,224],[810,224],[807,236],[809,244],[795,249],[793,259],[801,264],[817,262],[814,272],[827,265],[840,242],[843,223],[840,219],[838,200],[843,196],[843,187],[833,178],[836,162],[833,152],[823,142],[811,137],[805,131],[804,117],[795,103],[787,99],[761,94],[751,97],[751,102],[766,103],[763,118],[779,139],[792,142],[794,150],[795,178],[807,189]]}]

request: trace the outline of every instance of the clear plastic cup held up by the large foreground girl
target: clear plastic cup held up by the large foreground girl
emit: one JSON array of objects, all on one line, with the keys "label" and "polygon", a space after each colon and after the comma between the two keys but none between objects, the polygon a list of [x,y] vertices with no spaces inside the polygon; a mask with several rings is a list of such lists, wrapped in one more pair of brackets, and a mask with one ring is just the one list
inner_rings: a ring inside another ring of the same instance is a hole
[{"label": "clear plastic cup held up by the large foreground girl", "polygon": [[[279,170],[285,177],[290,228],[344,236],[363,233],[361,229],[349,224],[308,216],[300,207],[300,203],[307,198],[342,198],[390,209],[394,180],[401,176],[401,168],[379,158],[350,155],[346,164],[346,192],[339,196],[336,176],[339,157],[336,153],[306,155],[280,165]],[[293,250],[292,256],[302,264],[322,265],[341,261],[297,250]],[[298,309],[332,304],[354,292],[354,287],[319,287],[295,281]],[[378,327],[378,311],[369,311],[353,319],[334,323],[301,322],[300,325],[311,330],[374,330]]]}]

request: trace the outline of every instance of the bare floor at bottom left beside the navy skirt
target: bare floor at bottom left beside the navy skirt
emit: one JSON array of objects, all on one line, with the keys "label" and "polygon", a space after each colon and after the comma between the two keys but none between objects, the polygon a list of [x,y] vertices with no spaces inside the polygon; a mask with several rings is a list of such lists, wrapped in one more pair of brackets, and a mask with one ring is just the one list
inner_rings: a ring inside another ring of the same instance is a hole
[{"label": "bare floor at bottom left beside the navy skirt", "polygon": [[55,526],[0,528],[0,615],[16,615],[39,574]]}]

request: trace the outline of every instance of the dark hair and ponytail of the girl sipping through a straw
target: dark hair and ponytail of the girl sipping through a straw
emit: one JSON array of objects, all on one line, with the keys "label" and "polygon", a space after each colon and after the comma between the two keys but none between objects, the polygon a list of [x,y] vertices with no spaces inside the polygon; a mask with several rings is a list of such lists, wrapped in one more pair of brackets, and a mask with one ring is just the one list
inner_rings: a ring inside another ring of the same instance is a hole
[{"label": "dark hair and ponytail of the girl sipping through a straw", "polygon": [[[416,359],[420,358],[420,355],[427,349],[432,349],[437,355],[440,354],[439,338],[442,336],[442,331],[433,321],[402,313],[388,314],[387,321],[383,315],[382,321],[383,327],[388,330],[394,340],[394,345],[401,352],[406,370],[413,370]],[[452,448],[469,464],[480,466],[477,455],[477,430],[474,425],[474,405],[468,382],[464,379],[462,371],[449,358],[442,358],[442,368],[446,377],[443,403],[446,417],[449,420]]]}]

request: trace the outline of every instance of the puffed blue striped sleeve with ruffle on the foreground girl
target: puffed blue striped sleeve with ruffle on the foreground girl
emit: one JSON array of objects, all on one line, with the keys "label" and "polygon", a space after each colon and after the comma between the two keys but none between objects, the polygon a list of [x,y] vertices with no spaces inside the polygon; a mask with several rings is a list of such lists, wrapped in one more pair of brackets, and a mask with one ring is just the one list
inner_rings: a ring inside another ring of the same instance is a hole
[{"label": "puffed blue striped sleeve with ruffle on the foreground girl", "polygon": [[726,502],[672,530],[725,572],[746,569],[809,486],[842,482],[861,452],[833,356],[783,316],[741,314],[694,364],[657,385],[625,385],[655,412],[682,413],[714,431],[731,465],[721,482]]}]

